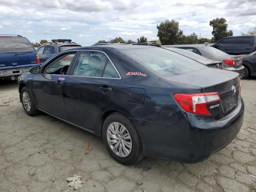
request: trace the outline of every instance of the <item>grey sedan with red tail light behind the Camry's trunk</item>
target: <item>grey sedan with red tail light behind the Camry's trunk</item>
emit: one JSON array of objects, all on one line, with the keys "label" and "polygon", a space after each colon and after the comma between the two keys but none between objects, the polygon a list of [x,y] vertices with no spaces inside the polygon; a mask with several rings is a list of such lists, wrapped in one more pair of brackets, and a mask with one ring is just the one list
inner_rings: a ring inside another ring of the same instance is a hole
[{"label": "grey sedan with red tail light behind the Camry's trunk", "polygon": [[211,46],[206,46],[204,44],[165,45],[163,47],[176,47],[180,49],[186,49],[205,58],[221,61],[222,65],[224,66],[224,70],[238,72],[241,76],[244,74],[244,66],[242,66],[242,56],[229,55],[221,50],[218,50]]}]

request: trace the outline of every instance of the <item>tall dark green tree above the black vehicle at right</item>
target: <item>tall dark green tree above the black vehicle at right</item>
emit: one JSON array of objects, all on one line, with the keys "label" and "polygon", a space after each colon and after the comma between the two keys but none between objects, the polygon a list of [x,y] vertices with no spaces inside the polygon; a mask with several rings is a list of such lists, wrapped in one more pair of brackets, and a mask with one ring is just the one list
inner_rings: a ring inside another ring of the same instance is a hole
[{"label": "tall dark green tree above the black vehicle at right", "polygon": [[212,35],[214,36],[214,42],[221,40],[224,37],[233,36],[232,30],[227,31],[228,24],[225,18],[216,18],[210,21],[212,26]]}]

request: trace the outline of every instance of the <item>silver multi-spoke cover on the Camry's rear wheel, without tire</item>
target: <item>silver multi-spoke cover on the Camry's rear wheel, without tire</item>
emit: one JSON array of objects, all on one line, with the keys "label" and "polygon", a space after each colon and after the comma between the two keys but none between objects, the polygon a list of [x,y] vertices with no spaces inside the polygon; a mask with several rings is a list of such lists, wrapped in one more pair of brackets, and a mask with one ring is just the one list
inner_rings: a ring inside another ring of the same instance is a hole
[{"label": "silver multi-spoke cover on the Camry's rear wheel, without tire", "polygon": [[119,123],[112,122],[106,132],[108,145],[112,152],[119,157],[127,157],[132,151],[132,138],[127,128]]}]

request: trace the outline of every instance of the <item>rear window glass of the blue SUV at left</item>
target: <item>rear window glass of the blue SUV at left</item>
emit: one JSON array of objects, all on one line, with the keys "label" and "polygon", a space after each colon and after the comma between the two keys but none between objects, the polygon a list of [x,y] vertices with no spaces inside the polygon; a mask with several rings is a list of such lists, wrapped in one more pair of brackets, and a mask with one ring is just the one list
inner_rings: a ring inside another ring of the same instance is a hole
[{"label": "rear window glass of the blue SUV at left", "polygon": [[24,37],[1,37],[0,53],[18,53],[35,51],[32,44]]}]

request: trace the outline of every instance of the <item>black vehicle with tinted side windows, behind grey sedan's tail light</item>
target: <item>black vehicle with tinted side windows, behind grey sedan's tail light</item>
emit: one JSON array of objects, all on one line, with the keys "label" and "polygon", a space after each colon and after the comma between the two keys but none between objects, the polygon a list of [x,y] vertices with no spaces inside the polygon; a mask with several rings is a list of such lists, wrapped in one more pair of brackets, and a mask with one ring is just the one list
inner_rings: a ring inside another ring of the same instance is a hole
[{"label": "black vehicle with tinted side windows, behind grey sedan's tail light", "polygon": [[212,46],[230,55],[250,54],[256,51],[256,36],[244,35],[226,37]]}]

